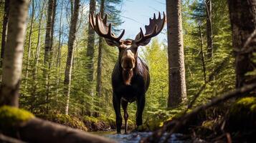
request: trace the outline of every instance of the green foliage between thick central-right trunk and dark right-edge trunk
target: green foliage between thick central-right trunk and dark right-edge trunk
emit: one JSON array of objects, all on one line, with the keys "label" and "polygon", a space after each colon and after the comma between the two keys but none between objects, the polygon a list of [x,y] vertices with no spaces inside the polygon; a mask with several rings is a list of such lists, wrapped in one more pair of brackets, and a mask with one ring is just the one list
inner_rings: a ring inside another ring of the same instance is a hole
[{"label": "green foliage between thick central-right trunk and dark right-edge trunk", "polygon": [[[196,100],[196,104],[202,104],[212,99],[212,97],[216,97],[217,94],[223,94],[234,88],[234,58],[231,54],[232,36],[227,1],[212,1],[214,37],[214,56],[212,59],[207,59],[207,56],[205,56],[207,54],[207,31],[204,1],[184,3],[183,10],[187,96],[190,101],[204,85],[201,56],[201,52],[203,52],[207,81],[209,82]],[[203,51],[201,51],[198,24],[202,24]],[[227,62],[222,64],[224,60],[227,60]],[[222,66],[219,67],[220,65]],[[219,70],[216,70],[218,68]],[[210,76],[213,79],[209,79]]]}]

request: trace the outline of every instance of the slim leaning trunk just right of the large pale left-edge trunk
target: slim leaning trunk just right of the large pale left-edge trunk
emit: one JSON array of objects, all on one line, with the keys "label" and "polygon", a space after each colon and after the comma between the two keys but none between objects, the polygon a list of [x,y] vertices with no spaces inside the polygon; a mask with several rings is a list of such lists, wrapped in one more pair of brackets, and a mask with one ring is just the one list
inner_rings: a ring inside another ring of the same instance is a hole
[{"label": "slim leaning trunk just right of the large pale left-edge trunk", "polygon": [[26,63],[26,74],[25,74],[25,89],[27,89],[27,77],[29,76],[29,59],[30,59],[30,55],[31,55],[31,36],[32,36],[32,29],[33,29],[33,25],[34,25],[34,11],[35,11],[35,7],[34,7],[34,0],[31,1],[32,4],[32,15],[31,15],[31,21],[30,21],[30,27],[29,27],[29,46],[27,48],[27,63]]}]

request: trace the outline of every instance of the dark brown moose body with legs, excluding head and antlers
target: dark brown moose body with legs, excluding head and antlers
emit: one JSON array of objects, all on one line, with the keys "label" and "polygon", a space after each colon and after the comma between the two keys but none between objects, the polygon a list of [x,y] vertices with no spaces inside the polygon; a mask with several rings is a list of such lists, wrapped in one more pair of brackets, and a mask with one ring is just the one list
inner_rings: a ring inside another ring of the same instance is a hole
[{"label": "dark brown moose body with legs, excluding head and antlers", "polygon": [[145,107],[145,95],[148,90],[150,77],[148,72],[148,66],[140,59],[136,59],[136,67],[133,69],[133,76],[131,77],[131,83],[125,84],[123,79],[123,68],[120,64],[120,60],[116,62],[115,68],[112,74],[112,87],[113,87],[113,106],[116,114],[116,125],[118,132],[122,125],[122,116],[120,113],[120,105],[123,107],[124,119],[125,119],[125,132],[128,128],[128,102],[136,101],[137,114],[136,124],[137,126],[142,124],[142,113]]}]

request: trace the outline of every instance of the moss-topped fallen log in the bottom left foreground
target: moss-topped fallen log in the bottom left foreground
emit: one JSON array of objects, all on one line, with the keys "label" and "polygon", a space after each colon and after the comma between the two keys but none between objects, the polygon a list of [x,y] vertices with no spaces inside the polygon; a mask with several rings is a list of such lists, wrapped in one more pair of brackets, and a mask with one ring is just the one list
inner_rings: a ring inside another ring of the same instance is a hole
[{"label": "moss-topped fallen log in the bottom left foreground", "polygon": [[24,109],[8,106],[0,107],[0,132],[22,142],[113,142],[79,129],[39,119]]}]

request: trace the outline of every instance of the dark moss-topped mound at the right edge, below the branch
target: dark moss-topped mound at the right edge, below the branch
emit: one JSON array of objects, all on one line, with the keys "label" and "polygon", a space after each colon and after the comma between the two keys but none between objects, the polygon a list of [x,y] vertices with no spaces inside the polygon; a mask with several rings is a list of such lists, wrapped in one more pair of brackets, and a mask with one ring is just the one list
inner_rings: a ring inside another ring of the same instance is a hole
[{"label": "dark moss-topped mound at the right edge, below the branch", "polygon": [[238,99],[229,111],[231,129],[253,129],[256,127],[256,97]]}]

